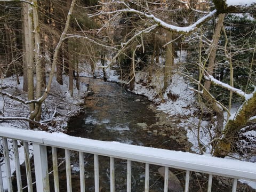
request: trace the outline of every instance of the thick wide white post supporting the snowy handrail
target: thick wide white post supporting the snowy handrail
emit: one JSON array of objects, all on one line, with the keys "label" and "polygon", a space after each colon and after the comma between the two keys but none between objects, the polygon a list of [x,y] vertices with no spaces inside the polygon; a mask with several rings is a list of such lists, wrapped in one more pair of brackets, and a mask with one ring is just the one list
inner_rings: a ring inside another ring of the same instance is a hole
[{"label": "thick wide white post supporting the snowy handrail", "polygon": [[33,143],[36,190],[50,192],[46,146]]}]

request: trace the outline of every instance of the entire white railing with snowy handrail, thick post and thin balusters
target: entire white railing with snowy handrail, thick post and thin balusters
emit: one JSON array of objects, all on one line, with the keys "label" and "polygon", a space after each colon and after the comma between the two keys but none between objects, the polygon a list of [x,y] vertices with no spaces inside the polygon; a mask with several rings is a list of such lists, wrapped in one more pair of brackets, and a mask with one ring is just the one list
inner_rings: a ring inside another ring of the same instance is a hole
[{"label": "entire white railing with snowy handrail, thick post and thin balusters", "polygon": [[[211,191],[213,175],[221,175],[233,178],[233,189],[236,191],[237,180],[256,181],[256,166],[254,163],[234,161],[231,159],[215,158],[206,155],[196,155],[181,151],[171,151],[150,147],[127,145],[119,142],[98,141],[85,138],[71,137],[63,133],[46,133],[43,131],[31,131],[0,127],[0,137],[3,141],[3,153],[5,174],[8,191],[13,191],[12,173],[9,159],[9,143],[12,141],[14,151],[15,171],[18,191],[22,191],[21,172],[19,164],[19,151],[17,141],[23,142],[27,190],[33,191],[28,143],[33,145],[34,166],[37,191],[50,191],[49,171],[46,147],[52,148],[52,167],[54,175],[54,190],[59,191],[59,176],[57,162],[57,148],[65,149],[67,191],[71,191],[70,150],[79,152],[80,188],[85,191],[84,177],[84,153],[94,154],[94,189],[99,187],[99,155],[110,157],[110,191],[115,191],[115,164],[114,159],[126,159],[127,161],[127,191],[131,191],[131,162],[145,163],[145,191],[149,191],[149,164],[165,166],[164,191],[168,186],[168,167],[186,170],[185,191],[189,190],[190,171],[209,174],[207,191]],[[9,141],[9,142],[8,142]],[[0,166],[1,168],[1,166]],[[4,191],[2,171],[0,170],[0,191]]]}]

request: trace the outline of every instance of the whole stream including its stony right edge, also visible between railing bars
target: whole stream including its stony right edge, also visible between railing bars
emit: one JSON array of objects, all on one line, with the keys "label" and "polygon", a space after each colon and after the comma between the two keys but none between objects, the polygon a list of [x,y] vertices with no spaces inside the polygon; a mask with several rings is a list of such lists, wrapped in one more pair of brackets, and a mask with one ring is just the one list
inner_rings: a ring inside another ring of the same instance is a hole
[{"label": "whole stream including its stony right edge, also visible between railing bars", "polygon": [[[189,143],[182,139],[172,139],[173,136],[182,138],[185,129],[175,127],[178,118],[169,118],[161,111],[152,110],[152,103],[147,98],[126,91],[120,84],[104,82],[101,79],[83,78],[90,84],[94,94],[86,97],[82,115],[74,117],[68,124],[69,135],[97,139],[102,141],[118,141],[131,145],[148,146],[169,150],[189,151]],[[49,170],[52,170],[51,148],[48,148]],[[67,191],[65,150],[57,149],[60,191]],[[77,151],[70,152],[71,183],[73,191],[80,191],[79,155]],[[34,169],[34,159],[31,158]],[[94,191],[94,161],[93,154],[84,154],[85,191]],[[109,157],[99,156],[100,192],[110,191]],[[115,191],[126,191],[127,161],[115,158]],[[157,165],[150,164],[149,191],[164,191],[164,180],[158,174]],[[185,186],[186,171],[169,168],[180,180],[182,188]],[[21,173],[26,173],[25,166],[21,166]],[[32,171],[33,181],[35,173]],[[54,191],[53,174],[49,174],[50,191]],[[207,191],[208,175],[190,172],[189,191]],[[26,175],[22,174],[22,183],[26,186]],[[13,186],[16,185],[13,177]],[[36,186],[33,185],[34,191]],[[145,164],[132,162],[132,192],[145,191]],[[231,191],[232,180],[214,175],[212,191]],[[14,187],[14,191],[17,191]],[[25,188],[23,191],[27,191]],[[171,190],[170,190],[171,191]],[[237,191],[255,192],[246,184],[238,183]]]}]

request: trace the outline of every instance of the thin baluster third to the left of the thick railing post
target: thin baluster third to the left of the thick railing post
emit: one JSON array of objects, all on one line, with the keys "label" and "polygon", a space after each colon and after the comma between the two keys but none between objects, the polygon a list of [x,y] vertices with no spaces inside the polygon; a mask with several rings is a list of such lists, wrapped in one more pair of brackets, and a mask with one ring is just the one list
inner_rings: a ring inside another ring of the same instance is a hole
[{"label": "thin baluster third to the left of the thick railing post", "polygon": [[8,142],[6,138],[3,138],[3,147],[4,147],[4,162],[5,162],[5,173],[8,181],[8,192],[12,190],[12,174],[10,167],[10,158],[9,158],[9,150],[8,150]]}]

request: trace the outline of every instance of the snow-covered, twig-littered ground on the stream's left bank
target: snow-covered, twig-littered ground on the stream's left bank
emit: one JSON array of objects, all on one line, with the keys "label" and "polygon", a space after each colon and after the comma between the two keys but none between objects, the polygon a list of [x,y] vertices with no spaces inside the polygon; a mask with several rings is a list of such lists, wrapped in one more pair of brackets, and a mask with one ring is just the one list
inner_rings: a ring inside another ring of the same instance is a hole
[{"label": "snow-covered, twig-littered ground on the stream's left bank", "polygon": [[[2,92],[10,93],[19,99],[26,101],[26,93],[22,91],[23,85],[23,77],[19,77],[20,84],[17,84],[15,77],[9,77],[2,79],[1,87]],[[34,81],[35,82],[35,81]],[[75,86],[75,82],[74,82]],[[6,89],[5,89],[6,88]],[[80,89],[74,89],[74,96],[71,97],[68,90],[68,77],[63,76],[63,85],[58,84],[55,79],[52,83],[52,91],[50,95],[47,97],[45,102],[43,102],[42,108],[42,121],[41,123],[49,123],[54,122],[53,124],[47,124],[47,131],[49,132],[62,132],[65,130],[67,126],[67,122],[69,117],[72,115],[76,115],[82,109],[79,107],[79,103],[83,103],[84,97],[87,93],[87,84],[81,83]],[[12,100],[8,97],[1,96],[0,97],[0,116],[5,117],[28,117],[29,116],[29,107],[23,105],[22,103]],[[5,127],[5,129],[9,129],[9,127],[17,127],[19,129],[28,129],[29,125],[27,122],[24,121],[1,121],[0,120],[0,127]],[[38,129],[41,129],[39,127]],[[15,163],[14,159],[14,152],[12,147],[12,141],[8,140],[9,150],[10,150],[10,166],[11,172],[15,171]],[[2,139],[0,140],[0,150],[2,151],[3,143]],[[24,148],[20,145],[19,146],[19,155],[20,155],[20,163],[22,164],[25,161],[24,157]],[[1,159],[1,158],[0,158]],[[2,162],[2,161],[1,161]],[[6,181],[6,172],[5,172],[5,164],[1,163],[1,170],[3,174],[3,185],[4,188],[7,188],[7,181]]]}]

